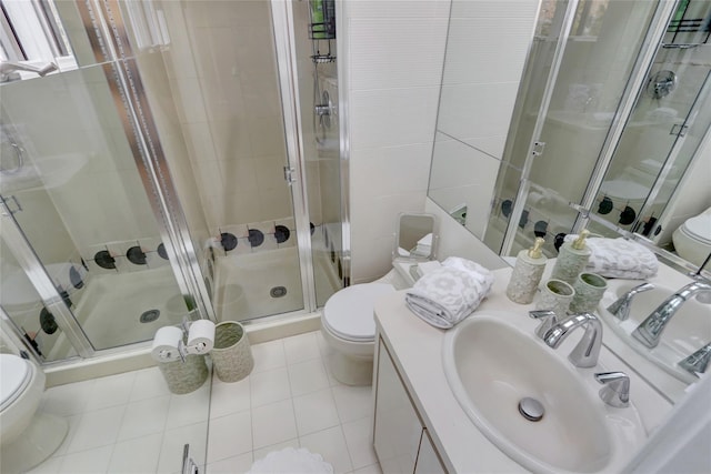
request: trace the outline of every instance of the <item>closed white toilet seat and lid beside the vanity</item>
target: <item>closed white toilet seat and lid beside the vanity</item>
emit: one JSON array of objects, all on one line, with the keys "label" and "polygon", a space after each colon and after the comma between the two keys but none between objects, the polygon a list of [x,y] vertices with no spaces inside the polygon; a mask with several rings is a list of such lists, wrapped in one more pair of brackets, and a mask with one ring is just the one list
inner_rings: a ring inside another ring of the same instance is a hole
[{"label": "closed white toilet seat and lid beside the vanity", "polygon": [[326,302],[323,325],[343,340],[372,342],[375,339],[375,300],[394,291],[388,283],[363,283],[344,288]]}]

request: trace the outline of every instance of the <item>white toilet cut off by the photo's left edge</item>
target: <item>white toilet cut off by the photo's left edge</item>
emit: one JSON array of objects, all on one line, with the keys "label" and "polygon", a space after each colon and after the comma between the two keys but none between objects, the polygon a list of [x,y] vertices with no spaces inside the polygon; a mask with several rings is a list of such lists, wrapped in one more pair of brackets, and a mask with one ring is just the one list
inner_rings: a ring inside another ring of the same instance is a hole
[{"label": "white toilet cut off by the photo's left edge", "polygon": [[38,412],[44,393],[44,372],[14,354],[0,354],[0,448],[2,473],[37,466],[60,446],[66,420]]}]

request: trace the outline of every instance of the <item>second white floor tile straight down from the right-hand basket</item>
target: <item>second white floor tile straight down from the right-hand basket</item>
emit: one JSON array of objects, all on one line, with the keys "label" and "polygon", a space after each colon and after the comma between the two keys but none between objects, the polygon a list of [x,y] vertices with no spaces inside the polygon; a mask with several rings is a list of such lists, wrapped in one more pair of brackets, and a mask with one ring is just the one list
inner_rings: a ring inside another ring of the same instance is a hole
[{"label": "second white floor tile straight down from the right-hand basket", "polygon": [[210,420],[208,463],[252,452],[252,416],[239,412]]}]

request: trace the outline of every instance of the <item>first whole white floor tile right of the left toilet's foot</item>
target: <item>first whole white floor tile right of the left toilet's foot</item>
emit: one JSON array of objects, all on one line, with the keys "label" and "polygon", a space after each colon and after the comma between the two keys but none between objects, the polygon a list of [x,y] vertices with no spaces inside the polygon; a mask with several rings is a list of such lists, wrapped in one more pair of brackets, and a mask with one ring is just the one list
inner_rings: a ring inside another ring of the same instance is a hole
[{"label": "first whole white floor tile right of the left toilet's foot", "polygon": [[68,453],[112,445],[119,436],[119,427],[126,405],[87,412],[79,420]]}]

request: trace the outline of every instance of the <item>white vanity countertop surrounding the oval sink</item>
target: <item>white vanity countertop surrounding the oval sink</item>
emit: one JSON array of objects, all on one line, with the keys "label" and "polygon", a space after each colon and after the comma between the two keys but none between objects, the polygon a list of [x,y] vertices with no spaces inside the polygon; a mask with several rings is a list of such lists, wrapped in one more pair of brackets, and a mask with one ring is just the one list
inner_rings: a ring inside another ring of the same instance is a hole
[{"label": "white vanity countertop surrounding the oval sink", "polygon": [[[505,286],[511,269],[493,272],[495,282],[491,293],[481,303],[477,313],[509,311],[520,314],[515,324],[531,333],[538,322],[528,316],[533,304],[517,304],[505,296]],[[432,435],[434,445],[449,472],[454,473],[517,473],[527,472],[508,457],[477,428],[455,400],[442,367],[444,330],[437,329],[415,316],[404,303],[405,291],[383,296],[375,303],[375,323],[380,336],[391,350],[394,363],[403,379],[412,401]],[[603,337],[608,337],[608,331]],[[557,352],[567,357],[570,346],[578,342],[572,335],[570,345],[563,344]],[[604,341],[604,339],[603,339]],[[569,343],[567,341],[565,343]],[[637,407],[649,433],[659,425],[672,404],[631,371],[605,346],[600,353],[600,363],[607,370],[620,370],[630,376],[631,403]],[[590,370],[592,371],[592,370]]]}]

